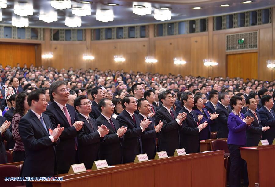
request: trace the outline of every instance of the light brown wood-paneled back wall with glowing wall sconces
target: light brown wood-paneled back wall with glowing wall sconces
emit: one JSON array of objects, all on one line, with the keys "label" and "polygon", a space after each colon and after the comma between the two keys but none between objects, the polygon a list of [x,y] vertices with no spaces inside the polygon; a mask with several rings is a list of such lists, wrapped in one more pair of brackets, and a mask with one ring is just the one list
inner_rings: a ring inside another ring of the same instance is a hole
[{"label": "light brown wood-paneled back wall with glowing wall sconces", "polygon": [[[50,41],[50,29],[45,29],[41,54],[53,52],[53,59],[42,59],[41,64],[58,69],[97,67],[101,70],[124,69],[162,74],[226,77],[228,75],[226,55],[258,52],[258,76],[255,78],[272,80],[275,78],[275,70],[266,67],[266,60],[275,59],[275,8],[272,8],[272,11],[273,18],[270,24],[213,31],[213,18],[209,18],[208,32],[165,37],[153,37],[154,26],[149,25],[149,38],[91,41],[91,31],[86,29],[86,41]],[[251,31],[258,31],[258,49],[226,52],[226,34]],[[91,54],[95,59],[85,61],[82,58],[83,54]],[[126,61],[115,63],[114,55],[122,55]],[[146,64],[147,55],[154,55],[158,62]],[[176,66],[173,60],[175,57],[182,58],[187,64]],[[203,59],[216,61],[218,66],[205,67]]]}]

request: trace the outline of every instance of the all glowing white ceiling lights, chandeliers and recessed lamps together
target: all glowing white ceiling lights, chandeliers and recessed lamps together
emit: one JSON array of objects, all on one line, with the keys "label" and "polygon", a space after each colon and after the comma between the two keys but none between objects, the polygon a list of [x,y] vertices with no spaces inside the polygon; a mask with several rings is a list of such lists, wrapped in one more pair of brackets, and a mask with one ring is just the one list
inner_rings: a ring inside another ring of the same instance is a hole
[{"label": "all glowing white ceiling lights, chandeliers and recessed lamps together", "polygon": [[[251,3],[252,1],[244,1],[242,3]],[[81,26],[81,17],[91,15],[91,6],[92,2],[90,1],[81,1],[82,6],[72,7],[73,17],[65,18],[65,25],[68,27],[80,27]],[[86,4],[86,5],[85,5]],[[109,6],[119,6],[119,4],[108,3]],[[51,6],[63,10],[71,8],[71,0],[51,0]],[[230,6],[229,4],[221,5],[221,7]],[[0,0],[0,9],[7,7],[7,0]],[[202,7],[193,7],[193,9],[202,9]],[[29,22],[28,18],[24,16],[33,15],[33,5],[28,2],[15,2],[14,4],[14,13],[23,16],[23,17],[14,17],[12,19],[12,25],[16,27],[28,27]],[[133,13],[137,15],[144,16],[146,14],[152,13],[152,7],[150,3],[133,3]],[[160,7],[160,9],[154,9],[154,18],[156,20],[165,21],[171,20],[172,13],[171,8],[169,7]],[[0,21],[2,20],[2,13],[0,10]],[[43,10],[39,14],[39,20],[51,23],[57,21],[57,12],[50,11],[44,12]],[[112,9],[97,9],[96,11],[96,20],[102,22],[108,22],[114,20],[114,13]]]}]

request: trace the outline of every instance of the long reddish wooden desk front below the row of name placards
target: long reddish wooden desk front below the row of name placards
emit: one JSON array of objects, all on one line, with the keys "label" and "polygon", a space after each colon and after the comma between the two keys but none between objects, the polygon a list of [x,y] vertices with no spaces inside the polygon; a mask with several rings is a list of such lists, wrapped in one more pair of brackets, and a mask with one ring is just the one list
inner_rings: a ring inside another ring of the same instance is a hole
[{"label": "long reddish wooden desk front below the row of name placards", "polygon": [[224,151],[194,153],[141,163],[63,174],[63,181],[35,181],[34,187],[224,186]]}]

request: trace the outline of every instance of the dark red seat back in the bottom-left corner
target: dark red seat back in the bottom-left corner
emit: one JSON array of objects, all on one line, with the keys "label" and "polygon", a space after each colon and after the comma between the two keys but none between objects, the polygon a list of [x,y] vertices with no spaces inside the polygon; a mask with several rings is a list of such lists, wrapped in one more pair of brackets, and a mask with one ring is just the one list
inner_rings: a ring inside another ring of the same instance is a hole
[{"label": "dark red seat back in the bottom-left corner", "polygon": [[5,177],[20,177],[17,166],[0,166],[0,186],[13,187],[22,185],[21,181],[5,181]]}]

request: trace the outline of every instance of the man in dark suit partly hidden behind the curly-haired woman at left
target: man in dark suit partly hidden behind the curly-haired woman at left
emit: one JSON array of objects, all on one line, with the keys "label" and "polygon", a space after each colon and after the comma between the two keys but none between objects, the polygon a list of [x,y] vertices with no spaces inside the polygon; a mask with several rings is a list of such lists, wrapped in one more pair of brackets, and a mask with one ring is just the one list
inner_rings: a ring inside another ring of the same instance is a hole
[{"label": "man in dark suit partly hidden behind the curly-haired woman at left", "polygon": [[[10,109],[4,114],[3,117],[6,118],[7,121],[12,123],[13,116],[14,116],[14,110],[15,110],[15,104],[16,104],[16,97],[17,94],[13,94],[10,96],[10,98],[7,100],[9,105],[11,106]],[[12,124],[9,126],[9,130],[12,133]],[[15,145],[15,141],[13,138],[11,138],[9,141],[7,141],[7,149],[13,149]]]}]

